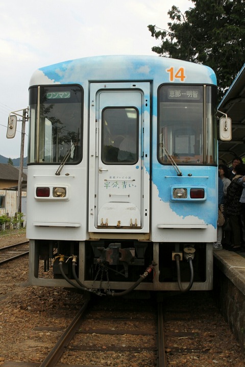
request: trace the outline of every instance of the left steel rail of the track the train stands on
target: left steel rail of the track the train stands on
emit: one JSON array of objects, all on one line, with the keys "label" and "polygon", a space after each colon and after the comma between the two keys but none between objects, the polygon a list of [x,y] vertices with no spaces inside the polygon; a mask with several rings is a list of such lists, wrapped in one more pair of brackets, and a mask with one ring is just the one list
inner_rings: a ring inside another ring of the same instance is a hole
[{"label": "left steel rail of the track the train stands on", "polygon": [[39,367],[54,367],[59,361],[60,357],[64,353],[65,348],[70,343],[70,340],[74,337],[81,321],[84,313],[88,307],[90,302],[90,297],[88,297],[84,303],[84,305],[80,308],[75,318],[71,321],[70,325],[65,329],[64,333],[59,338],[56,345],[53,349],[48,353],[46,358],[42,361]]}]

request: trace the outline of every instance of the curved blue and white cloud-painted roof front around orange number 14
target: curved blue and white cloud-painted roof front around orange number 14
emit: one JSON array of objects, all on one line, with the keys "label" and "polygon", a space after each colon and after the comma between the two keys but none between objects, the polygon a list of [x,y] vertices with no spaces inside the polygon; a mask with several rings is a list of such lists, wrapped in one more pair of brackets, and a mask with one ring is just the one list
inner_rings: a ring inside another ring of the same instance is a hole
[{"label": "curved blue and white cloud-painted roof front around orange number 14", "polygon": [[[169,82],[166,68],[186,71],[185,83],[216,85],[211,68],[201,64],[158,56],[115,55],[93,56],[68,60],[42,67],[32,75],[30,85],[85,84],[86,81],[149,81]],[[177,79],[177,81],[179,81]]]}]

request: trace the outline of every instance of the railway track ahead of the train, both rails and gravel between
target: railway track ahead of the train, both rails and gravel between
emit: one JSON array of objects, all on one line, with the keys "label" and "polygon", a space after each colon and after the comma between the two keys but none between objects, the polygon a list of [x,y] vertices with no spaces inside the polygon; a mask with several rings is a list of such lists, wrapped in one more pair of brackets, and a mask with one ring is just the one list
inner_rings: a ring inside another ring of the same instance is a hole
[{"label": "railway track ahead of the train, both rails and gravel between", "polygon": [[83,367],[112,359],[128,366],[166,366],[162,304],[158,316],[151,302],[107,299],[90,307],[86,300],[40,367],[54,366],[60,358]]}]

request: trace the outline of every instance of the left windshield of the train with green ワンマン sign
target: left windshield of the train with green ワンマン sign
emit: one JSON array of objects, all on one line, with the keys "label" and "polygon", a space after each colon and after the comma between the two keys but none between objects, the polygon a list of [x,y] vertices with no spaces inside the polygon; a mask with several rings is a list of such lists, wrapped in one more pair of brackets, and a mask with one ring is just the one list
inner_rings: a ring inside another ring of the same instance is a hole
[{"label": "left windshield of the train with green \u30ef\u30f3\u30de\u30f3 sign", "polygon": [[82,159],[80,86],[30,88],[29,163],[78,163]]}]

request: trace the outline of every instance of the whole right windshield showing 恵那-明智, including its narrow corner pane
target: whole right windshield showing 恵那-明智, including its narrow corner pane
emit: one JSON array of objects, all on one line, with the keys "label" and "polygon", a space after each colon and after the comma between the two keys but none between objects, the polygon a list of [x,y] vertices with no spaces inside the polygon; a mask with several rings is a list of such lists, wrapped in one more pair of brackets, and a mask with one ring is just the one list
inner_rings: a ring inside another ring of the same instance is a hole
[{"label": "whole right windshield showing \u6075\u90a3-\u660e\u667a, including its narrow corner pane", "polygon": [[158,159],[169,164],[214,164],[216,91],[200,85],[162,85],[159,89]]}]

